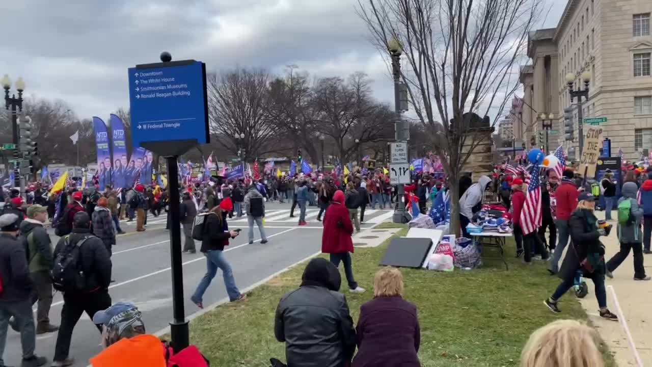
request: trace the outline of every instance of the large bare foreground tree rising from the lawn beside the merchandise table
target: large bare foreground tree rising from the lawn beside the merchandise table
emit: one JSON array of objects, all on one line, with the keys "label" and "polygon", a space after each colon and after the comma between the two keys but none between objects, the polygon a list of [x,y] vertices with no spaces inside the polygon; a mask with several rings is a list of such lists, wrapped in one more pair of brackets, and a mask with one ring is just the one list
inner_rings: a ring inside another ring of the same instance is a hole
[{"label": "large bare foreground tree rising from the lawn beside the merchandise table", "polygon": [[[518,87],[516,64],[525,54],[540,3],[358,0],[359,15],[379,50],[386,54],[393,39],[402,48],[408,65],[400,78],[441,159],[452,198],[458,197],[462,167],[482,142],[471,119],[496,110],[501,116]],[[457,234],[459,212],[458,200],[451,200],[451,228]]]}]

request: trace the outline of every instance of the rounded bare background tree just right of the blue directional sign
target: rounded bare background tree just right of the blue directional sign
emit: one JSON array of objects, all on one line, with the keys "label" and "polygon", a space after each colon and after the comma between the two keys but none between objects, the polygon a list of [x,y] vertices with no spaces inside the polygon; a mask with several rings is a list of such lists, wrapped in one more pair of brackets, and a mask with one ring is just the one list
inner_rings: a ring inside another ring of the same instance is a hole
[{"label": "rounded bare background tree just right of the blue directional sign", "polygon": [[243,149],[244,161],[267,153],[276,138],[268,114],[270,78],[267,71],[247,69],[208,76],[211,135],[233,155]]}]

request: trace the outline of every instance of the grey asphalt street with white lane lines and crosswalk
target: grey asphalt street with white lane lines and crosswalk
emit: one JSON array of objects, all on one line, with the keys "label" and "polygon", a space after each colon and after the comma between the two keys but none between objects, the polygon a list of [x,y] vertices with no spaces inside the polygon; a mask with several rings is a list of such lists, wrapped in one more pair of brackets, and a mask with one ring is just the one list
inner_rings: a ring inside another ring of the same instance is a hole
[{"label": "grey asphalt street with white lane lines and crosswalk", "polygon": [[[295,216],[299,214],[298,209]],[[235,282],[240,289],[245,289],[272,276],[274,273],[295,264],[321,249],[321,223],[316,221],[318,209],[309,207],[306,226],[297,226],[297,217],[289,217],[289,204],[267,203],[265,231],[269,243],[260,244],[258,229],[254,229],[254,244],[248,244],[246,218],[229,220],[231,229],[242,228],[241,235],[231,241],[226,257],[233,268]],[[363,228],[371,227],[391,219],[390,210],[371,210],[365,213]],[[113,247],[113,279],[109,293],[113,302],[129,301],[138,305],[143,312],[143,321],[147,332],[155,333],[168,327],[172,317],[171,272],[170,272],[170,232],[164,229],[164,215],[149,217],[147,231],[136,232],[135,223],[123,221],[121,227],[126,234],[117,238]],[[51,235],[53,242],[57,240]],[[183,241],[183,238],[182,238]],[[198,253],[183,255],[183,293],[185,295],[186,315],[199,311],[190,302],[190,295],[205,274],[205,258],[199,253],[200,243],[196,242]],[[205,306],[214,304],[227,297],[224,281],[218,272],[211,286],[204,295]],[[256,296],[255,293],[252,296]],[[50,310],[51,322],[60,323],[63,298],[57,293]],[[52,360],[57,333],[37,336],[37,354]],[[9,329],[5,363],[8,366],[20,365],[20,335]],[[82,316],[75,327],[70,357],[76,360],[74,366],[87,366],[89,358],[100,351],[100,334],[86,315]]]}]

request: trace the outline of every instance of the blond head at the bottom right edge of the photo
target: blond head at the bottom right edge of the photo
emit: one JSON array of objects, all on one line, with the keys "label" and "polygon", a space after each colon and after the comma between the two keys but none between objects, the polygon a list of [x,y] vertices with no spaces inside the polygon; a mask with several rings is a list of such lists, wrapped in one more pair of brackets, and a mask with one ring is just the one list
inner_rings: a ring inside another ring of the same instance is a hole
[{"label": "blond head at the bottom right edge of the photo", "polygon": [[557,320],[529,337],[521,353],[521,367],[603,367],[595,345],[595,330],[576,320]]}]

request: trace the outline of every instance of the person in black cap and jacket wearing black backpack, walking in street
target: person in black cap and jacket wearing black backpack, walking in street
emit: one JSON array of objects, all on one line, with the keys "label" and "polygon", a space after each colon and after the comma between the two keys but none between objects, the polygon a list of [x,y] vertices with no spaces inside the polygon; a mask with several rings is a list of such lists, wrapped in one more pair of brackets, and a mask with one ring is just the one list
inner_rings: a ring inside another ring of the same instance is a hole
[{"label": "person in black cap and jacket wearing black backpack, walking in street", "polygon": [[111,306],[111,259],[102,240],[91,233],[91,217],[86,212],[75,214],[72,233],[59,239],[54,264],[54,288],[63,293],[63,308],[52,366],[71,366],[72,330],[82,313],[93,319],[97,311]]}]

